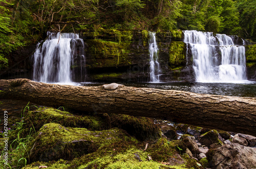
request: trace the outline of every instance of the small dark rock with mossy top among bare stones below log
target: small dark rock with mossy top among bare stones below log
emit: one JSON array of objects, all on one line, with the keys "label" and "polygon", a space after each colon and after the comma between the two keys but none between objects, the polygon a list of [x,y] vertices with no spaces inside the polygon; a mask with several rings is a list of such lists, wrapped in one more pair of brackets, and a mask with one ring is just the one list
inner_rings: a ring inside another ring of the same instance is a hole
[{"label": "small dark rock with mossy top among bare stones below log", "polygon": [[201,142],[207,147],[210,147],[210,145],[213,143],[219,143],[223,145],[222,140],[223,138],[220,136],[220,134],[216,130],[211,130],[199,137],[199,142]]}]

